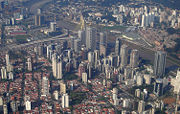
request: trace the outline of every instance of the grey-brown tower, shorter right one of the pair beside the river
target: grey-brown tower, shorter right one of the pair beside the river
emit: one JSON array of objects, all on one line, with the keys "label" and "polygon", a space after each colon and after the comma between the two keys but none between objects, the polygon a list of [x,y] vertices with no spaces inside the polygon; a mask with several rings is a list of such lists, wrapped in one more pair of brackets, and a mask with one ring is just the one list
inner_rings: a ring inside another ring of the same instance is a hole
[{"label": "grey-brown tower, shorter right one of the pair beside the river", "polygon": [[139,51],[133,49],[130,54],[130,66],[132,68],[138,67],[138,60],[139,60]]}]

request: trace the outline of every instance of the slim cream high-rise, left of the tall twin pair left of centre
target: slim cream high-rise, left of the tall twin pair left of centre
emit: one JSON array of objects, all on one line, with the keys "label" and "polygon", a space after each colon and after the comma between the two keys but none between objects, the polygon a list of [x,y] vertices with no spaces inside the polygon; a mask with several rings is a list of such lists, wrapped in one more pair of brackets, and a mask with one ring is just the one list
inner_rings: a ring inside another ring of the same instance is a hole
[{"label": "slim cream high-rise, left of the tall twin pair left of centre", "polygon": [[53,71],[53,76],[56,78],[57,77],[57,56],[56,53],[52,55],[52,71]]}]

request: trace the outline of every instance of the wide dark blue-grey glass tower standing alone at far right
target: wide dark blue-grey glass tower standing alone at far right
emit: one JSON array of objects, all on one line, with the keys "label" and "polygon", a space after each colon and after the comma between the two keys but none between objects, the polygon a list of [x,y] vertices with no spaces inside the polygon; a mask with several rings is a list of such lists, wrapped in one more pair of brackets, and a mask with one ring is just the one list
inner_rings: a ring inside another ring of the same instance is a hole
[{"label": "wide dark blue-grey glass tower standing alone at far right", "polygon": [[166,67],[166,52],[157,51],[154,59],[154,75],[162,78]]}]

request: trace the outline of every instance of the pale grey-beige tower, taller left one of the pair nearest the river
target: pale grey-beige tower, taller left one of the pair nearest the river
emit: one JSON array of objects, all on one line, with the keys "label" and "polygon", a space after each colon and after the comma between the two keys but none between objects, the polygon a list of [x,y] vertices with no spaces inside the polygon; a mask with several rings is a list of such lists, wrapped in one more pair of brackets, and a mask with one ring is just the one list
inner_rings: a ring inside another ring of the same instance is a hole
[{"label": "pale grey-beige tower, taller left one of the pair nearest the river", "polygon": [[121,67],[124,67],[127,65],[127,62],[128,62],[128,46],[127,45],[124,44],[121,46],[120,56],[121,56]]}]

